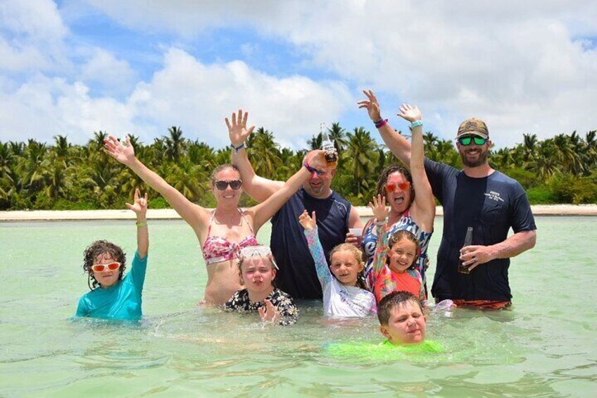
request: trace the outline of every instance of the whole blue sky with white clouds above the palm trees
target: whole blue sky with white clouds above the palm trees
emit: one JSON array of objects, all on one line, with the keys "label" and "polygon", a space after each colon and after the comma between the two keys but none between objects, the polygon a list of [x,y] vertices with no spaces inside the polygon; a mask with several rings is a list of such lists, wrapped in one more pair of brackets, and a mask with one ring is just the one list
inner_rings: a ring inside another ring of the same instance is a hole
[{"label": "whole blue sky with white clouds above the palm trees", "polygon": [[[320,123],[395,128],[404,101],[453,138],[486,120],[498,147],[597,129],[596,1],[0,0],[0,141],[170,126],[213,147],[242,107],[277,142]],[[593,105],[591,105],[593,104]]]}]

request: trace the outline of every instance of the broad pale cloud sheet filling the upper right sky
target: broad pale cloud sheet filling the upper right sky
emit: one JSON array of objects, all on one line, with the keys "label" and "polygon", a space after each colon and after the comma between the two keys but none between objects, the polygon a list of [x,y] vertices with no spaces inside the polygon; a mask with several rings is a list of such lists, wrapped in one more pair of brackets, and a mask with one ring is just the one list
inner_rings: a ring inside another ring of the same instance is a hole
[{"label": "broad pale cloud sheet filling the upper right sky", "polygon": [[[597,127],[594,1],[94,1],[130,27],[197,35],[244,25],[298,46],[311,67],[419,104],[451,137],[486,118],[498,145]],[[133,8],[142,12],[134,13]],[[225,9],[224,9],[225,8]],[[116,16],[118,15],[118,16]]]}]

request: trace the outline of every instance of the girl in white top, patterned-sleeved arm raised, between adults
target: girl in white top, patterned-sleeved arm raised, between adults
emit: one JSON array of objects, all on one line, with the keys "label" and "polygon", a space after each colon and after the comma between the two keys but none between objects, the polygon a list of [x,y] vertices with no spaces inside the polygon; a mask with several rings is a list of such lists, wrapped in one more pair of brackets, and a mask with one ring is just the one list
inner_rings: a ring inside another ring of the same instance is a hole
[{"label": "girl in white top, patterned-sleeved arm raised, between adults", "polygon": [[305,228],[309,251],[315,261],[315,270],[323,290],[323,310],[327,316],[355,317],[377,312],[375,296],[365,290],[364,280],[359,276],[365,267],[363,254],[352,244],[343,243],[329,253],[330,266],[319,240],[318,228],[313,211],[311,218],[307,211],[298,217]]}]

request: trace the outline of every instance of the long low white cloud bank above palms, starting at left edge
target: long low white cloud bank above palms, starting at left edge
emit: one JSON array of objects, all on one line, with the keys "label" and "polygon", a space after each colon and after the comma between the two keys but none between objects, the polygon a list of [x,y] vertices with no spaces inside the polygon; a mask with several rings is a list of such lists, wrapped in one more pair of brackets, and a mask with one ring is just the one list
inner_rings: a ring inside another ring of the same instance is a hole
[{"label": "long low white cloud bank above palms, starting at left edge", "polygon": [[229,144],[224,118],[242,107],[250,111],[249,123],[274,131],[280,144],[303,147],[321,121],[331,123],[351,104],[348,90],[338,83],[271,77],[240,61],[204,65],[170,49],[163,69],[139,83],[125,101],[91,97],[82,82],[36,75],[0,96],[0,120],[3,141],[34,137],[47,142],[61,134],[84,143],[103,130],[118,137],[132,133],[151,143],[177,125],[189,139],[224,147]]}]

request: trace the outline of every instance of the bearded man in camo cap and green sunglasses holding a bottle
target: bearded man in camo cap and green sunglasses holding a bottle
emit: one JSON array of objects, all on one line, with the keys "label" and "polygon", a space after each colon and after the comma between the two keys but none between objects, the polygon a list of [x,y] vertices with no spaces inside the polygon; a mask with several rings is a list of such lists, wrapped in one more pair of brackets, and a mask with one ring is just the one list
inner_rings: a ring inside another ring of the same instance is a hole
[{"label": "bearded man in camo cap and green sunglasses holding a bottle", "polygon": [[[372,106],[379,106],[374,95]],[[371,106],[371,105],[370,105]],[[379,133],[394,155],[410,163],[410,142],[392,128]],[[460,306],[503,309],[511,304],[510,257],[534,247],[536,226],[520,184],[489,166],[491,141],[483,120],[460,123],[456,148],[463,170],[425,159],[434,196],[444,207],[444,231],[437,254],[432,294]],[[463,247],[467,228],[472,244]],[[508,230],[514,234],[508,237]],[[459,263],[465,271],[459,272]]]}]

